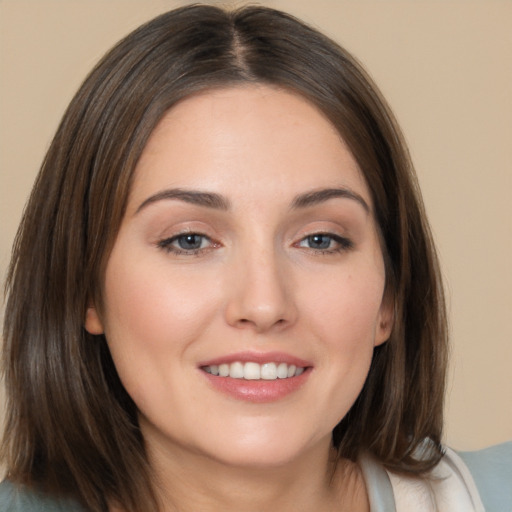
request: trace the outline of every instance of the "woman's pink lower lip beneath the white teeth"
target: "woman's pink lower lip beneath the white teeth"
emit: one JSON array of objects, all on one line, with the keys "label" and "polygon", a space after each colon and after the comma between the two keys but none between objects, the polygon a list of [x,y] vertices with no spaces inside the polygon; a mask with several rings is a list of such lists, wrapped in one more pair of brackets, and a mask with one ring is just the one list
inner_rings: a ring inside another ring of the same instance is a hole
[{"label": "woman's pink lower lip beneath the white teeth", "polygon": [[201,372],[217,391],[236,400],[254,403],[276,402],[298,391],[309,378],[311,368],[297,377],[275,380],[245,380],[231,377],[218,377],[205,371]]}]

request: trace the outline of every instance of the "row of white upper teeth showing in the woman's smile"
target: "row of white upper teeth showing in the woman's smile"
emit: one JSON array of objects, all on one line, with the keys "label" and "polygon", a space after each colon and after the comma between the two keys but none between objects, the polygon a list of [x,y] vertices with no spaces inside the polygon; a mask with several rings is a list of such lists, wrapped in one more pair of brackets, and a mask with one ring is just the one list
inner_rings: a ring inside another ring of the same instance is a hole
[{"label": "row of white upper teeth showing in the woman's smile", "polygon": [[203,370],[212,375],[231,377],[232,379],[276,380],[298,377],[304,373],[305,368],[286,363],[265,363],[260,365],[253,362],[242,363],[235,361],[231,364],[223,363],[204,366]]}]

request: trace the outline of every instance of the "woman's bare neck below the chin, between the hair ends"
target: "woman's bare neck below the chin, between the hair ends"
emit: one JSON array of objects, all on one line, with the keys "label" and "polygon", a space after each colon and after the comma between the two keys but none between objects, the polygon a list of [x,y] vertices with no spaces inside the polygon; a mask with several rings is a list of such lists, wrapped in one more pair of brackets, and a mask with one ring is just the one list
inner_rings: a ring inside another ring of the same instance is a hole
[{"label": "woman's bare neck below the chin, between the hair ends", "polygon": [[[153,449],[152,449],[153,448]],[[203,455],[148,447],[161,512],[369,510],[358,467],[329,444],[273,467],[230,466]]]}]

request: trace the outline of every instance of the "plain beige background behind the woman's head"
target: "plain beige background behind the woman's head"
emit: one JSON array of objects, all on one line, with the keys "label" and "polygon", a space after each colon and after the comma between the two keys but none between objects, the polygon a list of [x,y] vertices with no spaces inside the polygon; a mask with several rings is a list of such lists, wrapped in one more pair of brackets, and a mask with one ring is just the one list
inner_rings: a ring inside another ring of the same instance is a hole
[{"label": "plain beige background behind the woman's head", "polygon": [[[37,168],[79,83],[121,36],[185,3],[0,1],[2,280]],[[344,44],[390,101],[417,166],[451,304],[446,440],[476,449],[512,439],[512,2],[259,3]]]}]

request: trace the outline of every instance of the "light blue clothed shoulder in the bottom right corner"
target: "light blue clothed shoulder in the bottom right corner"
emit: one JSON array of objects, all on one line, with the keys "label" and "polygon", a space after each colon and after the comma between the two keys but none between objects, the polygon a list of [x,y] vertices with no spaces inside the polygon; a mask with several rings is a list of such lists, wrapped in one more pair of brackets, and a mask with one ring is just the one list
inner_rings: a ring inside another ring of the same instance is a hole
[{"label": "light blue clothed shoulder in the bottom right corner", "polygon": [[474,452],[458,452],[489,512],[512,511],[512,441]]}]

